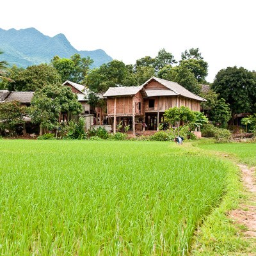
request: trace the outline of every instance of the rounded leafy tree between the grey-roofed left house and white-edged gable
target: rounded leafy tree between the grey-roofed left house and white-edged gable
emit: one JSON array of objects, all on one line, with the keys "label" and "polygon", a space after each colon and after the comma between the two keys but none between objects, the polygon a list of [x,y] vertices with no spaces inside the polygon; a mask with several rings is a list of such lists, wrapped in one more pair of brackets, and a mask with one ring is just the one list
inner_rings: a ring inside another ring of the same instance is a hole
[{"label": "rounded leafy tree between the grey-roofed left house and white-edged gable", "polygon": [[58,127],[61,112],[73,114],[82,112],[77,96],[68,86],[54,84],[36,90],[31,100],[30,113],[32,122],[40,124],[41,131],[42,128],[52,130]]}]

